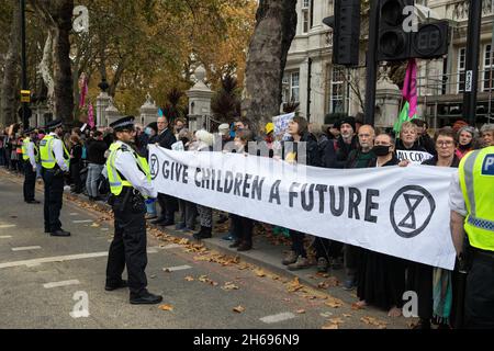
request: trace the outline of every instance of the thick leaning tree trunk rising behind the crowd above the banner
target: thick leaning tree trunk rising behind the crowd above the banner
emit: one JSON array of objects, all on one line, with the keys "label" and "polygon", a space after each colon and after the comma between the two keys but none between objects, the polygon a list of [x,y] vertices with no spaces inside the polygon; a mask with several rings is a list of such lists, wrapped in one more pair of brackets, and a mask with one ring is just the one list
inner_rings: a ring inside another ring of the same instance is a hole
[{"label": "thick leaning tree trunk rising behind the crowd above the banner", "polygon": [[279,114],[287,55],[296,31],[296,0],[260,0],[250,39],[242,112],[263,124]]}]

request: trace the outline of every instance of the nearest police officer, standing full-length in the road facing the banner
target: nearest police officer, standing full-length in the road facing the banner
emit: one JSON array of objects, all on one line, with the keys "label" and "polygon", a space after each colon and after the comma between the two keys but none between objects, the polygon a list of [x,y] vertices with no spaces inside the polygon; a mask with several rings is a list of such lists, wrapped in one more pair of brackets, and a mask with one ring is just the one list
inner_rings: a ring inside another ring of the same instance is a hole
[{"label": "nearest police officer, standing full-length in the road facing the banner", "polygon": [[[110,126],[116,137],[106,160],[115,234],[108,258],[105,290],[128,286],[131,304],[158,304],[162,297],[146,290],[144,272],[147,264],[145,197],[156,199],[158,194],[153,188],[146,159],[131,146],[135,138],[134,117],[120,118]],[[128,283],[122,280],[125,265]]]}]

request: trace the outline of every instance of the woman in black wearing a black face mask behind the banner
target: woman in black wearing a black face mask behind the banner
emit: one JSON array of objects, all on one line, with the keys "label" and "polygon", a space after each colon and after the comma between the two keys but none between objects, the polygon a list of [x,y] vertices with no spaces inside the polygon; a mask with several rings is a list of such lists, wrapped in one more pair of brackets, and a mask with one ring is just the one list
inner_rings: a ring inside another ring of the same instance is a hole
[{"label": "woman in black wearing a black face mask behind the banner", "polygon": [[[372,154],[377,158],[371,167],[397,166],[394,155],[395,140],[389,134],[375,137]],[[403,293],[405,292],[405,263],[402,259],[363,250],[359,267],[357,296],[358,306],[373,305],[386,309],[388,316],[401,316]]]}]

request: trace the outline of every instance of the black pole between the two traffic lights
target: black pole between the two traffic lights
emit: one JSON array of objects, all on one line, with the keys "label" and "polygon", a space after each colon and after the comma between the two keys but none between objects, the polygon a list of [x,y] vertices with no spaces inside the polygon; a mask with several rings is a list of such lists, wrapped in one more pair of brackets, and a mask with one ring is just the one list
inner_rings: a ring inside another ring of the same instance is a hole
[{"label": "black pole between the two traffic lights", "polygon": [[378,79],[378,24],[379,24],[379,1],[372,0],[369,12],[369,47],[367,50],[367,81],[366,81],[366,111],[364,123],[374,125],[375,112],[375,89]]}]

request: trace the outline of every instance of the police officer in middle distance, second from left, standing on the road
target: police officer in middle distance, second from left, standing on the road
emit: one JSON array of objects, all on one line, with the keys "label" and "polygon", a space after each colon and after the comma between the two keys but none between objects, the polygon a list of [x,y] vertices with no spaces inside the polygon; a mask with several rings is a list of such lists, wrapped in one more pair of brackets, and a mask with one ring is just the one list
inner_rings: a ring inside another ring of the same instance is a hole
[{"label": "police officer in middle distance, second from left, standing on the road", "polygon": [[59,220],[64,195],[64,173],[69,171],[70,155],[60,140],[64,134],[61,121],[46,125],[50,131],[40,143],[42,176],[45,182],[45,233],[55,237],[68,237],[69,231],[61,229]]}]

